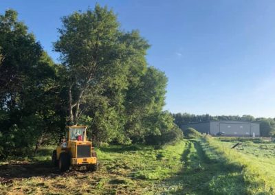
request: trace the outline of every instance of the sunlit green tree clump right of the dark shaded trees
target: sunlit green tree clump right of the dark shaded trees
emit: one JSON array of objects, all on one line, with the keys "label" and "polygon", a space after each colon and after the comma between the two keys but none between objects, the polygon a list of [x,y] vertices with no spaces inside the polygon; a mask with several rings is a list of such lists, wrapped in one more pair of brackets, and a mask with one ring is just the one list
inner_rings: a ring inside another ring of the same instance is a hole
[{"label": "sunlit green tree clump right of the dark shaded trees", "polygon": [[173,129],[162,112],[167,78],[147,66],[149,45],[139,32],[122,32],[113,11],[100,5],[62,21],[54,47],[67,69],[70,123],[91,118],[84,124],[97,145],[142,142]]}]

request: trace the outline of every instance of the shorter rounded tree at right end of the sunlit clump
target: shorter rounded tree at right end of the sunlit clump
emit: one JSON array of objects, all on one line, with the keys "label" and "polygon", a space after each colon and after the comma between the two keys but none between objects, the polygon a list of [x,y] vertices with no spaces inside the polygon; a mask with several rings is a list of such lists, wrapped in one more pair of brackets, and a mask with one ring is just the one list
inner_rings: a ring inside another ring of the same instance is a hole
[{"label": "shorter rounded tree at right end of the sunlit clump", "polygon": [[159,134],[159,115],[162,113],[167,78],[162,71],[148,67],[136,85],[126,93],[125,130],[132,139],[142,139],[148,134]]}]

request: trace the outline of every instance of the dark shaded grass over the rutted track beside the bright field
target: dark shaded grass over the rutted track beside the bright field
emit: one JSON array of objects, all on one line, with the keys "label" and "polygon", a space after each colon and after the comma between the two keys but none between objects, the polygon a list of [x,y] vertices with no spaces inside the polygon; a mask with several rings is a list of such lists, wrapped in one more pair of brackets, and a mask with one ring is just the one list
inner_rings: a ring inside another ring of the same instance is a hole
[{"label": "dark shaded grass over the rutted track beside the bright field", "polygon": [[241,168],[208,158],[206,150],[199,141],[190,140],[182,154],[182,160],[188,163],[164,181],[169,194],[245,194]]}]

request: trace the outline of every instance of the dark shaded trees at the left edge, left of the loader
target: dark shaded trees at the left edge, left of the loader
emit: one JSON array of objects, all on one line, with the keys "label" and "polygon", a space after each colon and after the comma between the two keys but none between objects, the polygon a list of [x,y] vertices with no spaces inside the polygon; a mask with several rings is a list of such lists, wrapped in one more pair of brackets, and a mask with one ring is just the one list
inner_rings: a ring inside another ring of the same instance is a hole
[{"label": "dark shaded trees at the left edge, left of the loader", "polygon": [[22,154],[34,145],[39,148],[59,128],[59,68],[14,10],[0,15],[0,47],[2,156]]}]

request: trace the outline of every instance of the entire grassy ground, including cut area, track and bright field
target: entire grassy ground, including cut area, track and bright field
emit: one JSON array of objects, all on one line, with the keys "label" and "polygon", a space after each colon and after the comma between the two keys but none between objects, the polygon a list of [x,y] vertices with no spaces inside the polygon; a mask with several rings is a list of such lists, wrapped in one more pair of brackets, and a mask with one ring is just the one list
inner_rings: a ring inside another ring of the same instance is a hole
[{"label": "entire grassy ground, including cut area, track and bright field", "polygon": [[274,194],[275,144],[201,137],[175,146],[106,146],[97,172],[61,174],[53,147],[25,161],[1,162],[2,194]]}]

